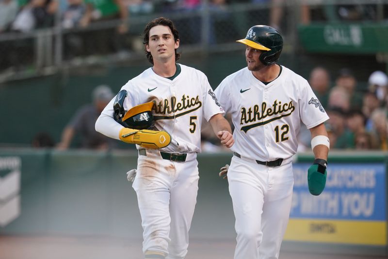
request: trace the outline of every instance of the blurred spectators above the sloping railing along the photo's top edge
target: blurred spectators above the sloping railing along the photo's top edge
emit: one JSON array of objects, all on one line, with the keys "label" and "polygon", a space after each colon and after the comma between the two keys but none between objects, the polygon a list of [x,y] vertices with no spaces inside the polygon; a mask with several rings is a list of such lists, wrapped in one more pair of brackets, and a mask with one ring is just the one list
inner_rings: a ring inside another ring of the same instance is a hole
[{"label": "blurred spectators above the sloping railing along the photo's top edge", "polygon": [[[294,1],[293,1],[294,2]],[[300,0],[301,22],[313,20],[377,20],[376,4],[324,4],[314,0],[314,5]],[[311,1],[310,1],[311,2]],[[270,4],[269,25],[279,29],[283,8],[287,0],[0,0],[0,33],[31,32],[35,29],[62,25],[64,29],[87,27],[96,21],[121,19],[119,33],[129,29],[130,15],[198,11],[203,5],[220,10],[235,3]],[[388,18],[384,6],[382,18]],[[380,17],[381,18],[381,17]]]}]

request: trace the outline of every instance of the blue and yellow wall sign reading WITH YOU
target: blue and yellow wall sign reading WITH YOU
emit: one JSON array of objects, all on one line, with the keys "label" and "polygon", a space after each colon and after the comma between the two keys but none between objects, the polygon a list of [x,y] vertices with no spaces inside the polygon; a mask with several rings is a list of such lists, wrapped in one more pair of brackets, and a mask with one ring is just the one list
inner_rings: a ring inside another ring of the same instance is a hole
[{"label": "blue and yellow wall sign reading WITH YOU", "polygon": [[309,166],[297,163],[293,167],[295,182],[286,239],[387,244],[386,166],[331,164],[319,196],[308,191]]}]

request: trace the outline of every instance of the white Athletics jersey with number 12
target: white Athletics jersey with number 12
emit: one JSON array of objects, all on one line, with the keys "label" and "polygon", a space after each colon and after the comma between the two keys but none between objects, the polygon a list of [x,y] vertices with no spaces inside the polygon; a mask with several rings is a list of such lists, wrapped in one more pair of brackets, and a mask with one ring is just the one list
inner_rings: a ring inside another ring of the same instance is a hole
[{"label": "white Athletics jersey with number 12", "polygon": [[214,91],[232,116],[232,151],[260,161],[289,158],[298,148],[300,121],[310,129],[329,118],[307,80],[281,68],[280,75],[268,85],[247,68],[241,69]]}]

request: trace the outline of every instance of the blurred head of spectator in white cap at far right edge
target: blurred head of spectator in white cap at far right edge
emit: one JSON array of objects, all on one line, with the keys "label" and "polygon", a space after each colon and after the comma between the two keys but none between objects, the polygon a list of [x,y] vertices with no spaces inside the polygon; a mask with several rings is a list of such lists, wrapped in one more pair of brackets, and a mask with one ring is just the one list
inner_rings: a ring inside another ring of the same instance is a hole
[{"label": "blurred head of spectator in white cap at far right edge", "polygon": [[388,76],[383,71],[374,71],[368,79],[368,89],[379,99],[382,106],[388,104]]}]

